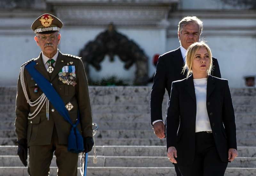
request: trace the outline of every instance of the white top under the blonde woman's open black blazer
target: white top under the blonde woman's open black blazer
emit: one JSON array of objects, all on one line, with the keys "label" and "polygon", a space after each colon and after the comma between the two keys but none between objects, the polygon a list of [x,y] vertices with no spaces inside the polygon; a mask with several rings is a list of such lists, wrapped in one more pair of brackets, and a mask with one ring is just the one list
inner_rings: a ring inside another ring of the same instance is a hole
[{"label": "white top under the blonde woman's open black blazer", "polygon": [[193,79],[196,93],[196,132],[212,131],[207,109],[207,78]]}]

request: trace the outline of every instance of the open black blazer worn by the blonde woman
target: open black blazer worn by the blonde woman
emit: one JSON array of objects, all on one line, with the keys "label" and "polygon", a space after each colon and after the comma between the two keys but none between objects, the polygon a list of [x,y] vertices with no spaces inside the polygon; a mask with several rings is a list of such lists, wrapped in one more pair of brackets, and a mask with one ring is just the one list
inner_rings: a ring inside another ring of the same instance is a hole
[{"label": "open black blazer worn by the blonde woman", "polygon": [[[208,76],[206,108],[220,158],[228,162],[228,149],[236,149],[236,124],[227,79]],[[195,131],[196,93],[193,75],[190,75],[172,83],[166,117],[167,150],[171,146],[176,147],[176,160],[181,165],[189,165],[194,161]]]}]

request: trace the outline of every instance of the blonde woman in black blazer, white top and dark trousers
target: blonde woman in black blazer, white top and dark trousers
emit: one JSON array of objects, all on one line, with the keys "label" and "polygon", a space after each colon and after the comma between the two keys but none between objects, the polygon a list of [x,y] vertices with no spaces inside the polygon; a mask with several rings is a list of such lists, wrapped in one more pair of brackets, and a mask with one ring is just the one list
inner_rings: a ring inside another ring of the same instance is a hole
[{"label": "blonde woman in black blazer, white top and dark trousers", "polygon": [[172,83],[166,117],[167,157],[182,176],[224,176],[237,156],[236,124],[228,80],[213,77],[211,49],[188,47],[183,73]]}]

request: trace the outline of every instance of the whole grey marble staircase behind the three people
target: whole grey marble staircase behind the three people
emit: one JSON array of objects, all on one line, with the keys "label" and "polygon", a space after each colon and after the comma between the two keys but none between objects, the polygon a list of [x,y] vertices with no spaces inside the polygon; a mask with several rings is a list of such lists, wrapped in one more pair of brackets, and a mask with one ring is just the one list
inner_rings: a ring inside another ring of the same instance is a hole
[{"label": "whole grey marble staircase behind the three people", "polygon": [[[88,176],[171,176],[166,142],[150,124],[151,87],[90,87],[98,163],[89,153]],[[236,113],[239,157],[228,164],[227,176],[256,175],[256,89],[231,89]],[[25,176],[17,156],[14,132],[16,87],[0,87],[0,176]],[[163,113],[167,96],[164,99]],[[79,162],[78,162],[79,165]],[[51,175],[56,175],[55,158]],[[80,175],[80,173],[78,174]]]}]

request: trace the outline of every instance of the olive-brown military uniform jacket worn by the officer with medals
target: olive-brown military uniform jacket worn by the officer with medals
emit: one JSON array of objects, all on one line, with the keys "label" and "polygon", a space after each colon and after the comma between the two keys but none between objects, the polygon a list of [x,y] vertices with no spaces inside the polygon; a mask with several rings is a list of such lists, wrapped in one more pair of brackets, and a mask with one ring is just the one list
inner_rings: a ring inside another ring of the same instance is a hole
[{"label": "olive-brown military uniform jacket worn by the officer with medals", "polygon": [[[79,131],[83,137],[92,137],[92,113],[90,98],[88,92],[88,82],[84,72],[84,65],[79,57],[72,55],[58,54],[54,70],[51,78],[49,77],[43,60],[42,53],[36,61],[35,68],[38,70],[50,83],[54,89],[58,92],[64,104],[69,102],[74,106],[69,111],[70,118],[73,123],[77,120],[77,112],[80,112],[80,123],[77,125]],[[72,64],[70,64],[70,63]],[[74,65],[76,68],[76,85],[64,84],[59,80],[58,73],[63,66]],[[37,87],[36,82],[33,80],[28,71],[24,70],[25,86],[28,93],[28,98],[31,101],[35,101],[43,93],[38,87],[38,92],[34,92]],[[70,133],[71,125],[65,121],[65,119],[57,112],[52,106],[49,105],[49,121],[46,118],[46,103],[43,108],[36,115],[35,118],[28,120],[28,113],[33,113],[37,106],[30,107],[27,103],[25,95],[22,90],[20,76],[17,85],[17,97],[16,97],[16,119],[15,119],[15,132],[18,140],[26,138],[28,140],[28,146],[30,145],[47,145],[51,143],[53,127],[56,127],[59,144],[68,143],[68,135]]]}]

